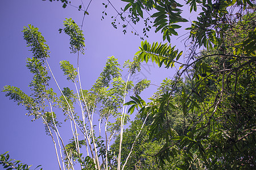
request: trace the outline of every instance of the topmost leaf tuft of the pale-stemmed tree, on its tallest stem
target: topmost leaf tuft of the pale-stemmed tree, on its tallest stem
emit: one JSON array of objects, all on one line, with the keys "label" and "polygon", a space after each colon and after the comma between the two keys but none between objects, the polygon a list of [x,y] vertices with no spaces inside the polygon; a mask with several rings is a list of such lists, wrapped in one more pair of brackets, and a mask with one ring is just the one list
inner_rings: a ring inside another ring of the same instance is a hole
[{"label": "topmost leaf tuft of the pale-stemmed tree, on its tallest stem", "polygon": [[[71,46],[69,48],[71,49],[71,53],[81,52],[84,54],[85,39],[82,30],[71,18],[64,20],[64,27],[64,32],[70,36],[69,44]],[[59,29],[59,31],[61,32],[62,29]]]}]

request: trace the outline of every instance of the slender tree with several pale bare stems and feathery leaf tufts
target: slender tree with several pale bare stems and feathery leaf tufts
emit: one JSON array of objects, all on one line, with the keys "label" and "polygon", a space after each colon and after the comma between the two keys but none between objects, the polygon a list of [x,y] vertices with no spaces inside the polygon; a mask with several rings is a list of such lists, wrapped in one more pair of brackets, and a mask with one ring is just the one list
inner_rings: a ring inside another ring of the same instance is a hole
[{"label": "slender tree with several pale bare stems and feathery leaf tufts", "polygon": [[[112,155],[109,153],[110,141],[114,135],[122,134],[123,126],[129,121],[129,115],[125,113],[127,107],[125,108],[123,103],[125,103],[127,92],[134,86],[133,82],[129,81],[129,78],[126,82],[122,79],[117,59],[112,56],[107,60],[104,70],[93,87],[90,90],[82,89],[79,57],[84,54],[84,35],[72,19],[64,20],[64,29],[59,31],[65,32],[70,37],[71,53],[77,54],[76,69],[68,61],[60,61],[60,68],[67,76],[67,80],[74,84],[75,91],[69,87],[60,89],[47,62],[49,47],[46,40],[38,28],[28,25],[22,32],[33,55],[32,58],[27,58],[27,68],[34,74],[29,85],[32,93],[24,94],[22,90],[13,86],[5,86],[3,92],[6,92],[6,96],[16,101],[18,105],[24,105],[28,116],[34,116],[34,121],[42,119],[46,133],[51,136],[55,146],[60,169],[75,169],[77,162],[80,163],[81,169],[102,169],[103,167],[108,169],[108,162],[111,164],[112,161],[110,160]],[[127,61],[125,66],[129,67],[130,74],[140,69],[136,61]],[[51,78],[56,83],[60,96],[57,96],[53,88],[49,88]],[[137,92],[143,91],[148,82],[139,84],[141,88],[136,89]],[[100,110],[96,111],[98,107]],[[69,143],[61,138],[59,128],[63,122],[57,121],[58,112],[62,112],[65,116],[64,121],[71,124],[72,138]],[[93,115],[97,112],[100,114],[98,131],[93,121]],[[102,126],[105,127],[103,135],[101,134]],[[121,146],[119,150],[121,152]],[[86,154],[85,158],[83,154]],[[5,162],[1,160],[1,164]]]}]

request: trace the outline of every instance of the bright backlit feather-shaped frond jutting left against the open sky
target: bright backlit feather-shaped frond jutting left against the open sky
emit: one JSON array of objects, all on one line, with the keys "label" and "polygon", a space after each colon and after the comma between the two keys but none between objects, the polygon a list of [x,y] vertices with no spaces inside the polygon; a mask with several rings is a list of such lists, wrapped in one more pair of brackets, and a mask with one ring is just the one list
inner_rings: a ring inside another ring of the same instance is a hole
[{"label": "bright backlit feather-shaped frond jutting left against the open sky", "polygon": [[135,54],[138,55],[139,61],[146,61],[151,59],[152,62],[158,64],[161,67],[163,64],[166,68],[174,67],[174,59],[179,59],[182,52],[178,53],[178,50],[174,50],[174,47],[166,44],[158,44],[158,42],[154,42],[150,45],[147,41],[141,42],[141,47],[139,47],[139,51]]}]

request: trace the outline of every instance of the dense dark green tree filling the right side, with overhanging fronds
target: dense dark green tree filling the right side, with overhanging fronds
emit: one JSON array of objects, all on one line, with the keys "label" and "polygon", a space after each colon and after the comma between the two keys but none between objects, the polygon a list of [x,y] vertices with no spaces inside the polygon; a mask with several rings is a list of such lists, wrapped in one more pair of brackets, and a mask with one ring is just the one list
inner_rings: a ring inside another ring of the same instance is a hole
[{"label": "dense dark green tree filling the right side, with overhanging fronds", "polygon": [[[156,18],[156,31],[162,29],[163,40],[168,40],[166,37],[170,36],[172,23],[181,22],[175,19],[180,12],[174,13],[179,9],[170,11],[174,2],[129,2],[126,8],[131,6],[130,12],[135,18],[142,16],[139,8],[159,11],[151,16]],[[151,113],[154,117],[148,131],[149,140],[164,141],[158,152],[162,167],[165,160],[171,162],[170,157],[181,152],[185,154],[184,163],[177,165],[181,169],[200,168],[201,163],[201,168],[207,169],[253,169],[255,7],[249,1],[188,1],[187,4],[191,11],[196,11],[197,4],[200,4],[203,12],[187,28],[191,30],[191,52],[187,62],[180,63],[170,91],[142,106],[139,111],[144,115]],[[206,49],[197,53],[196,49],[201,46]],[[142,42],[137,54],[141,61],[152,59],[159,67],[165,65],[167,68],[179,63],[180,57],[167,44],[154,42],[150,45],[147,41]],[[184,135],[177,134],[168,120],[172,109],[177,109],[173,92],[181,76],[189,78],[192,84],[189,93],[183,88],[179,101],[184,116],[191,119],[185,128],[188,133]]]}]

